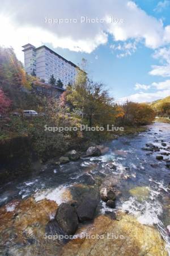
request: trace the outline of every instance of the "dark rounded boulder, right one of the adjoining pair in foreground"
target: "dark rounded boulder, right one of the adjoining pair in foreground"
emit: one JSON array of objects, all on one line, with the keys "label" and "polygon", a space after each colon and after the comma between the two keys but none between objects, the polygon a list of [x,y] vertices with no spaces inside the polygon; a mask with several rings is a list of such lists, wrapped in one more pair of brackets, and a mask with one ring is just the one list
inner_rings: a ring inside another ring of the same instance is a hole
[{"label": "dark rounded boulder, right one of the adjoining pair in foreground", "polygon": [[79,221],[83,222],[92,220],[94,218],[97,204],[98,201],[96,199],[92,199],[91,197],[88,196],[84,197],[82,203],[80,203],[79,207],[76,209]]}]

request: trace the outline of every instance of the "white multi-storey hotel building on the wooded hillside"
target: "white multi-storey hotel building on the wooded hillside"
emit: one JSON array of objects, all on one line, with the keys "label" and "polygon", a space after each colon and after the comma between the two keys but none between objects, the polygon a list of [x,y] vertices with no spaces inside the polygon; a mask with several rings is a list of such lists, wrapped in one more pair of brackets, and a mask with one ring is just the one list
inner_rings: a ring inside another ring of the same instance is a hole
[{"label": "white multi-storey hotel building on the wooded hillside", "polygon": [[74,63],[46,46],[36,48],[32,44],[25,44],[23,48],[25,72],[29,75],[35,72],[36,76],[44,79],[46,83],[49,82],[50,76],[54,75],[64,86],[69,82],[73,84],[78,68]]}]

